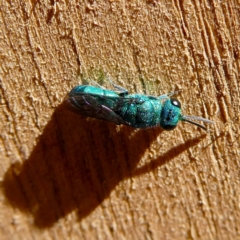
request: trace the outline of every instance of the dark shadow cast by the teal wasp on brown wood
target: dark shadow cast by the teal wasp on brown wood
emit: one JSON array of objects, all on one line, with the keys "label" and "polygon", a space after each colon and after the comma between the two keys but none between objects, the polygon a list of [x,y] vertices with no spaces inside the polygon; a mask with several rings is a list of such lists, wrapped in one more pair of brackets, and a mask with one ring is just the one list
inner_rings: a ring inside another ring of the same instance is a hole
[{"label": "dark shadow cast by the teal wasp on brown wood", "polygon": [[12,165],[3,179],[7,204],[30,213],[38,228],[72,211],[88,216],[116,185],[153,170],[203,137],[186,141],[137,168],[160,128],[136,131],[101,120],[87,120],[59,106],[23,165]]}]

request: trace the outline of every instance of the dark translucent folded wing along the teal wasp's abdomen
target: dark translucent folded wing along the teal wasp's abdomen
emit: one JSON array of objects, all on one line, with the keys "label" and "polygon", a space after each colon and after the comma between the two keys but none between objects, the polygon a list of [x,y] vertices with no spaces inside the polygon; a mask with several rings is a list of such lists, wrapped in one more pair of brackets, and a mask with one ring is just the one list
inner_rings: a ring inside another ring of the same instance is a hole
[{"label": "dark translucent folded wing along the teal wasp's abdomen", "polygon": [[[76,112],[86,117],[99,118],[107,121],[114,122],[115,124],[129,125],[119,115],[117,115],[112,109],[100,104],[98,99],[106,99],[108,101],[116,101],[116,97],[99,96],[96,94],[78,93],[76,96],[67,97],[66,102],[72,106]],[[98,99],[97,99],[98,98]],[[125,102],[125,100],[124,100]]]}]

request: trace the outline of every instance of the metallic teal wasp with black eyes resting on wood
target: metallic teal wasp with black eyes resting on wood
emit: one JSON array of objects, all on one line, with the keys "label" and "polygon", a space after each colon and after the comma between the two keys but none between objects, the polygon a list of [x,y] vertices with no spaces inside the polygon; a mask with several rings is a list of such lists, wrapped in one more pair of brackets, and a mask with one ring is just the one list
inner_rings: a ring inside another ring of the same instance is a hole
[{"label": "metallic teal wasp with black eyes resting on wood", "polygon": [[192,120],[213,123],[205,118],[182,115],[180,102],[171,98],[174,93],[159,97],[129,94],[126,89],[114,83],[112,85],[116,91],[105,89],[100,85],[76,86],[70,91],[66,101],[83,116],[134,128],[160,126],[165,130],[172,130],[179,121],[184,121],[207,131],[204,126]]}]

